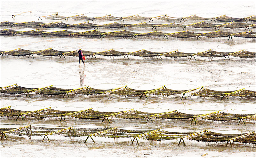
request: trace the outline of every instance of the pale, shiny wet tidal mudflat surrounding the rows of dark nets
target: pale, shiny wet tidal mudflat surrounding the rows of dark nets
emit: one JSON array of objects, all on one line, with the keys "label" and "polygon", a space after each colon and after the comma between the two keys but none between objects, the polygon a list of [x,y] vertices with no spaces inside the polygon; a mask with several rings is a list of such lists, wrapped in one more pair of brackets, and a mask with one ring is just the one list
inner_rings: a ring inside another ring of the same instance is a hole
[{"label": "pale, shiny wet tidal mudflat surrounding the rows of dark nets", "polygon": [[[106,14],[112,16],[130,16],[138,14],[143,17],[152,17],[168,13],[172,17],[186,17],[196,14],[200,17],[217,17],[227,14],[234,18],[243,18],[255,14],[255,1],[241,1],[231,4],[230,1],[63,1],[60,5],[58,1],[18,1],[12,5],[12,10],[8,9],[9,1],[1,1],[1,22],[2,21],[38,21],[39,16],[50,15],[59,12],[62,16],[72,16],[84,13],[85,16],[100,17]],[[38,4],[37,4],[38,3]],[[41,4],[51,3],[47,7]],[[99,5],[99,3],[101,5]],[[215,6],[218,3],[218,7]],[[39,5],[40,4],[40,5]],[[136,4],[136,5],[134,5]],[[84,6],[84,7],[81,7]],[[33,8],[33,9],[31,9]],[[57,8],[57,9],[56,9]],[[80,8],[80,9],[77,9]],[[12,19],[13,14],[32,10],[33,14],[24,13]],[[41,21],[41,20],[40,20]],[[56,22],[56,20],[46,20],[41,22]],[[75,24],[84,21],[62,20],[67,24]],[[91,21],[95,24],[105,24],[115,21]],[[186,20],[183,23],[191,24],[198,21]],[[210,21],[208,21],[210,22]],[[123,23],[139,23],[128,21]],[[147,22],[149,23],[149,22]],[[150,22],[152,23],[152,22]],[[164,24],[165,21],[154,20],[153,23]],[[171,23],[171,22],[170,22]],[[182,23],[175,21],[175,23]],[[2,28],[1,29],[5,29]],[[13,28],[14,30],[31,30],[32,28]],[[60,29],[45,29],[56,31]],[[82,32],[89,29],[72,29],[72,31]],[[117,29],[100,30],[115,31]],[[150,32],[147,29],[131,29],[133,32]],[[214,29],[187,30],[197,33],[210,32]],[[244,29],[221,28],[221,31],[242,32]],[[255,31],[255,28],[251,29]],[[159,29],[161,32],[178,32],[182,28]],[[239,50],[256,51],[255,38],[169,38],[138,37],[117,38],[69,38],[69,37],[40,37],[40,36],[1,36],[1,51],[17,48],[26,50],[43,50],[52,48],[58,51],[72,51],[77,47],[86,51],[105,51],[114,49],[116,51],[132,52],[141,49],[155,52],[168,52],[178,49],[181,52],[196,53],[212,49],[214,51],[233,52]],[[199,58],[196,61],[188,58],[138,58],[129,56],[129,59],[109,58],[97,56],[97,59],[87,57],[85,67],[78,65],[77,57],[44,57],[34,55],[35,59],[28,56],[13,57],[1,56],[0,84],[2,86],[17,83],[19,86],[28,88],[39,88],[54,85],[58,88],[80,88],[90,86],[96,89],[112,89],[128,85],[129,88],[138,90],[148,90],[159,88],[163,85],[168,89],[187,90],[204,86],[204,88],[217,91],[233,91],[241,88],[246,90],[256,90],[256,64],[255,58],[241,59],[230,57],[224,58]],[[81,64],[83,65],[83,64]],[[182,99],[182,95],[171,97],[148,96],[124,97],[110,95],[84,96],[70,94],[70,98],[62,96],[45,96],[31,94],[26,95],[6,95],[1,94],[1,107],[11,106],[18,110],[38,110],[52,107],[56,110],[78,111],[92,107],[93,110],[114,112],[124,111],[134,108],[143,112],[167,112],[178,110],[188,114],[205,114],[221,110],[232,114],[252,114],[255,113],[255,99],[212,99],[200,98],[188,95]],[[255,131],[255,121],[239,124],[236,121],[213,122],[199,119],[197,125],[190,125],[190,120],[165,120],[154,119],[153,123],[143,119],[124,120],[111,118],[110,123],[101,120],[79,120],[66,118],[66,122],[59,122],[56,119],[32,119],[25,118],[24,121],[15,118],[1,118],[1,128],[21,127],[24,125],[36,125],[42,127],[118,127],[128,129],[156,129],[168,131],[200,131],[211,130],[220,133],[241,133]],[[148,141],[140,139],[140,144],[131,145],[130,138],[114,140],[113,138],[93,137],[92,140],[84,143],[84,137],[66,138],[49,136],[50,142],[42,142],[42,138],[16,138],[1,140],[1,157],[255,157],[255,145],[234,144],[233,147],[225,148],[226,143],[204,143],[194,142],[186,139],[186,145],[178,146],[179,140],[172,141]],[[186,151],[186,152],[184,152]],[[72,154],[71,154],[72,153]]]}]

